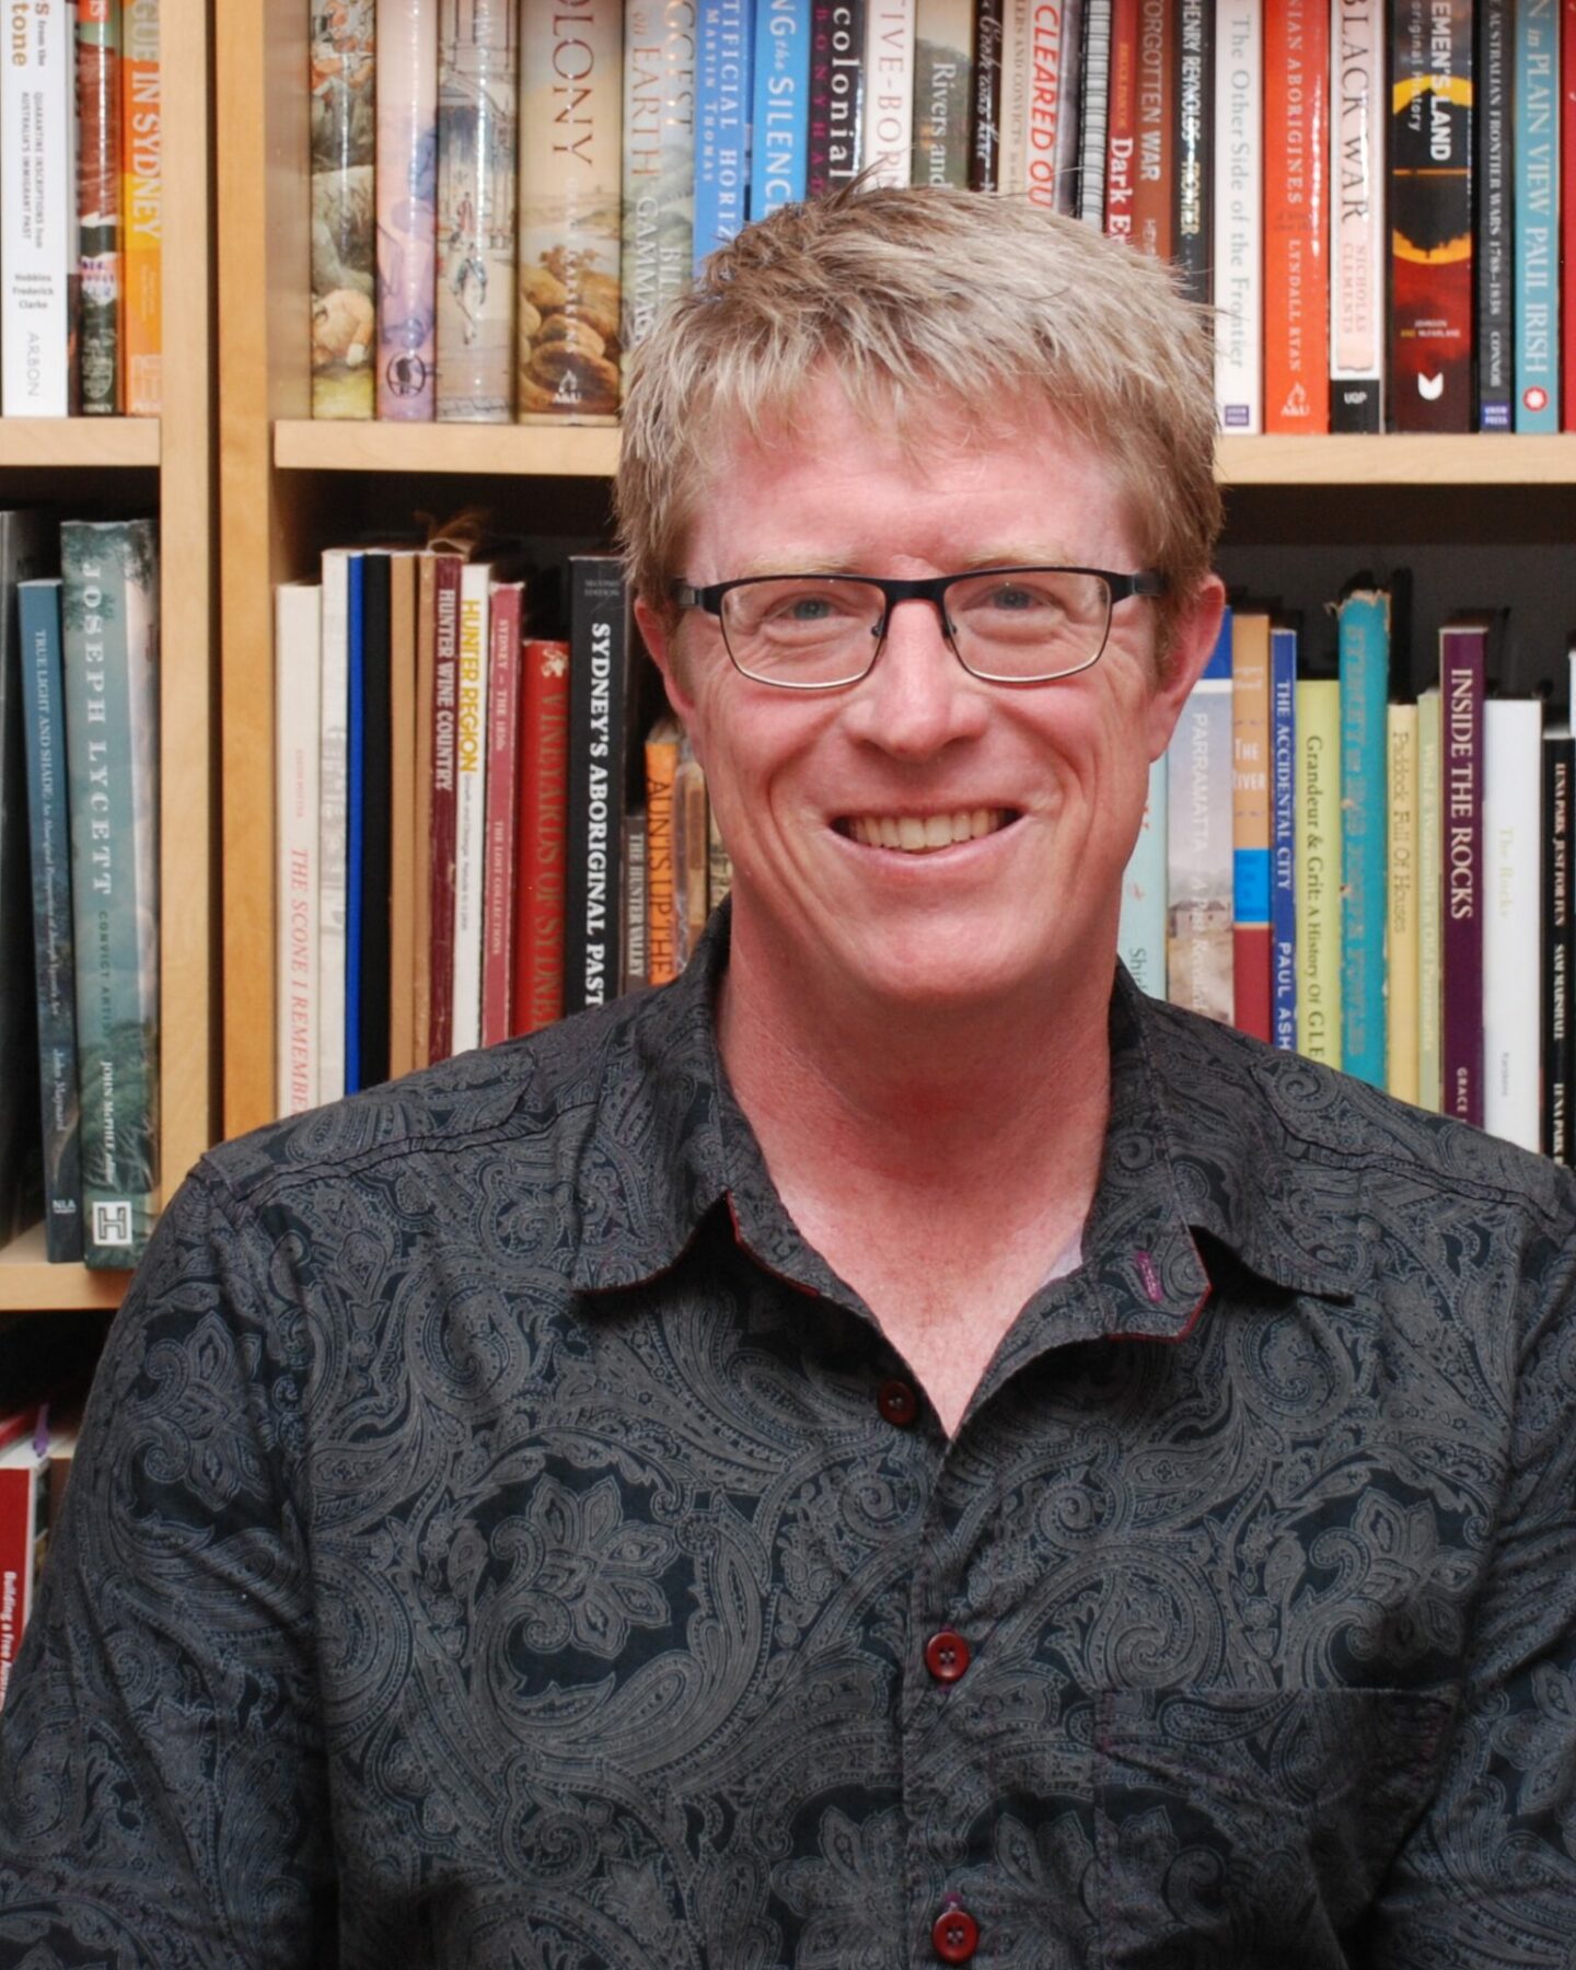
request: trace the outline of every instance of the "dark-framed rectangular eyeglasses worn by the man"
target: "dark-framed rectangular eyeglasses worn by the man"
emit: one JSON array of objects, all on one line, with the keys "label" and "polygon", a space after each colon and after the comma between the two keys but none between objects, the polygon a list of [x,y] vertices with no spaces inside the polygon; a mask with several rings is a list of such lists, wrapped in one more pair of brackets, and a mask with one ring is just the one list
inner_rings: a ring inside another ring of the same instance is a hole
[{"label": "dark-framed rectangular eyeglasses worn by the man", "polygon": [[1111,611],[1131,595],[1166,593],[1149,567],[981,567],[967,575],[890,581],[879,575],[745,575],[697,589],[676,581],[682,609],[705,609],[756,684],[833,691],[875,668],[898,603],[932,603],[948,648],[985,684],[1052,684],[1099,662]]}]

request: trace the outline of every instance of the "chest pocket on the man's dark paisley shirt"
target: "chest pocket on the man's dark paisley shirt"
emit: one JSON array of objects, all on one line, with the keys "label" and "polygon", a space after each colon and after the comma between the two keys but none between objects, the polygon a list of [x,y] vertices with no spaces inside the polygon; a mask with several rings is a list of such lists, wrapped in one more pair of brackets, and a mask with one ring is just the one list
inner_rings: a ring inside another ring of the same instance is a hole
[{"label": "chest pocket on the man's dark paisley shirt", "polygon": [[1344,1962],[1432,1797],[1454,1706],[1448,1688],[1099,1696],[1101,1962]]}]

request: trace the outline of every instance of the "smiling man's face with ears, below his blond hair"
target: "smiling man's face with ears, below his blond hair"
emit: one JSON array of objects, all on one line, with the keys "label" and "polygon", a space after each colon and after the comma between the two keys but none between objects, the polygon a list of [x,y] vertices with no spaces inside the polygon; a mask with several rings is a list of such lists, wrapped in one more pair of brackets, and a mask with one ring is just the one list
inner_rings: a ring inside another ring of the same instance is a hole
[{"label": "smiling man's face with ears, below his blond hair", "polygon": [[[1042,418],[985,435],[940,406],[916,463],[823,382],[800,431],[721,453],[686,579],[1139,567],[1113,473]],[[1109,955],[1149,762],[1217,621],[1212,583],[1180,624],[1162,684],[1154,605],[1119,603],[1091,670],[1001,686],[961,668],[934,607],[902,603],[861,684],[800,695],[743,678],[701,611],[674,638],[676,668],[658,621],[640,611],[733,857],[737,936],[749,928],[798,975],[812,965],[823,993],[873,995],[894,1013],[983,1013],[1056,993],[1070,967],[1087,975]],[[888,823],[912,841],[924,823],[981,812],[987,831],[971,839],[881,845]]]}]

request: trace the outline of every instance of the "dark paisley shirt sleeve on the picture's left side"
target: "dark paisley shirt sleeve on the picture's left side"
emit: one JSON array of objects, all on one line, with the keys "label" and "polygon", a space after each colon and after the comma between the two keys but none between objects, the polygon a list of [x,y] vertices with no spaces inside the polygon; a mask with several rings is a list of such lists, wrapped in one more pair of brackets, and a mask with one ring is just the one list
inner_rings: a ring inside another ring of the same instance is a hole
[{"label": "dark paisley shirt sleeve on the picture's left side", "polygon": [[0,1712],[0,1970],[333,1954],[305,1342],[234,1212],[181,1188],[98,1365]]}]

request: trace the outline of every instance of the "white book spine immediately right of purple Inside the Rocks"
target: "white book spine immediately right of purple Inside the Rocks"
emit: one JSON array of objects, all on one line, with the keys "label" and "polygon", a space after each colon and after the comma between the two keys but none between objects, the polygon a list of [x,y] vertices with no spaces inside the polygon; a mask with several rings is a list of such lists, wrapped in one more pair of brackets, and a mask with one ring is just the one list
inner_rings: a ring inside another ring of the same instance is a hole
[{"label": "white book spine immediately right of purple Inside the Rocks", "polygon": [[1483,1129],[1539,1150],[1543,705],[1483,705]]}]

